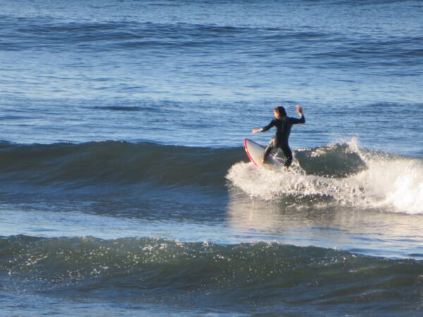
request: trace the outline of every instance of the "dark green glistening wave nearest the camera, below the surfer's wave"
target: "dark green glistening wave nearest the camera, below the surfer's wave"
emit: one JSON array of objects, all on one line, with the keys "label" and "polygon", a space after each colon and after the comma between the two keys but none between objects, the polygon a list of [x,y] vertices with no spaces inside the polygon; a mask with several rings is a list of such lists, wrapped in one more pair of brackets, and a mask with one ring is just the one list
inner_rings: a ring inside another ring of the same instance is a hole
[{"label": "dark green glistening wave nearest the camera, below the surfer's wave", "polygon": [[[220,245],[160,239],[0,238],[8,292],[263,312],[415,311],[421,261],[276,243]],[[79,294],[79,295],[78,295]],[[369,305],[371,303],[371,305]],[[216,306],[217,305],[217,306]],[[338,307],[338,308],[337,308]]]}]

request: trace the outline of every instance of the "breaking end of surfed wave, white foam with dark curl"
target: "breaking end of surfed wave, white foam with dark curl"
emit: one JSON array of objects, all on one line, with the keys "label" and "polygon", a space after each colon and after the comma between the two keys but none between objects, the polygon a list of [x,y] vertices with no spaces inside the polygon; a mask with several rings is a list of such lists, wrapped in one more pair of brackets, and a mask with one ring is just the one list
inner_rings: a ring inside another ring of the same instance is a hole
[{"label": "breaking end of surfed wave, white foam with dark curl", "polygon": [[237,163],[227,178],[262,199],[321,200],[343,206],[423,213],[423,161],[364,151],[357,140],[295,151],[293,168],[280,173]]}]

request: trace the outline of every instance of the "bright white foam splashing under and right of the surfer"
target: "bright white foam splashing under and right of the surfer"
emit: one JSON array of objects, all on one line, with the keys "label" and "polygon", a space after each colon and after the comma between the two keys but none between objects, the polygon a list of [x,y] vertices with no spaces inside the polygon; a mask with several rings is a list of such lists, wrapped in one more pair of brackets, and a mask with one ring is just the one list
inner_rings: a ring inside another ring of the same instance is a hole
[{"label": "bright white foam splashing under and right of the surfer", "polygon": [[[310,154],[319,156],[333,147]],[[306,174],[296,162],[290,170],[255,168],[252,163],[236,163],[227,178],[252,197],[266,200],[283,197],[331,197],[335,204],[379,208],[410,214],[423,214],[423,161],[362,151],[357,139],[348,151],[358,154],[367,168],[346,178]]]}]

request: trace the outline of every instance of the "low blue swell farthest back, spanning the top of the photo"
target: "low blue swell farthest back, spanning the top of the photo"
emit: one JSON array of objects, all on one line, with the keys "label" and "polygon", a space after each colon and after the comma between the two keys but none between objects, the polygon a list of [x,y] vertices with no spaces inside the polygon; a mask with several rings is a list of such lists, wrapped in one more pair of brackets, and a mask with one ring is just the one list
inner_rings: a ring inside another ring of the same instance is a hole
[{"label": "low blue swell farthest back, spanning the top of the photo", "polygon": [[[137,20],[64,23],[62,20],[15,17],[8,17],[4,23],[0,21],[0,27],[5,29],[0,51],[61,52],[76,49],[96,53],[118,51],[128,56],[133,54],[130,51],[140,50],[161,56],[204,56],[210,52],[227,54],[228,51],[236,51],[235,64],[244,58],[254,58],[257,63],[262,63],[261,59],[256,59],[257,56],[281,63],[281,58],[295,55],[302,56],[302,67],[306,63],[327,68],[415,66],[422,56],[420,35],[386,37],[373,34],[363,37],[336,30],[309,30],[307,27],[298,31],[288,27],[259,25],[152,23]],[[233,65],[228,58],[222,63]],[[408,73],[416,75],[419,70],[413,67]]]}]

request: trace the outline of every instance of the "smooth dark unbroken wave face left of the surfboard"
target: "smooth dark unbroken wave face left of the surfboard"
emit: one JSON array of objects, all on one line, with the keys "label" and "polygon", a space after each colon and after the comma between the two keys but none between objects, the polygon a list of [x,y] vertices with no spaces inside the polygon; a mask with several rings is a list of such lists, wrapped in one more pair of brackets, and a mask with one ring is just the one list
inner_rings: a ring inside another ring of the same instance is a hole
[{"label": "smooth dark unbroken wave face left of the surfboard", "polygon": [[224,185],[242,149],[205,149],[128,142],[0,144],[0,180],[35,185]]}]

